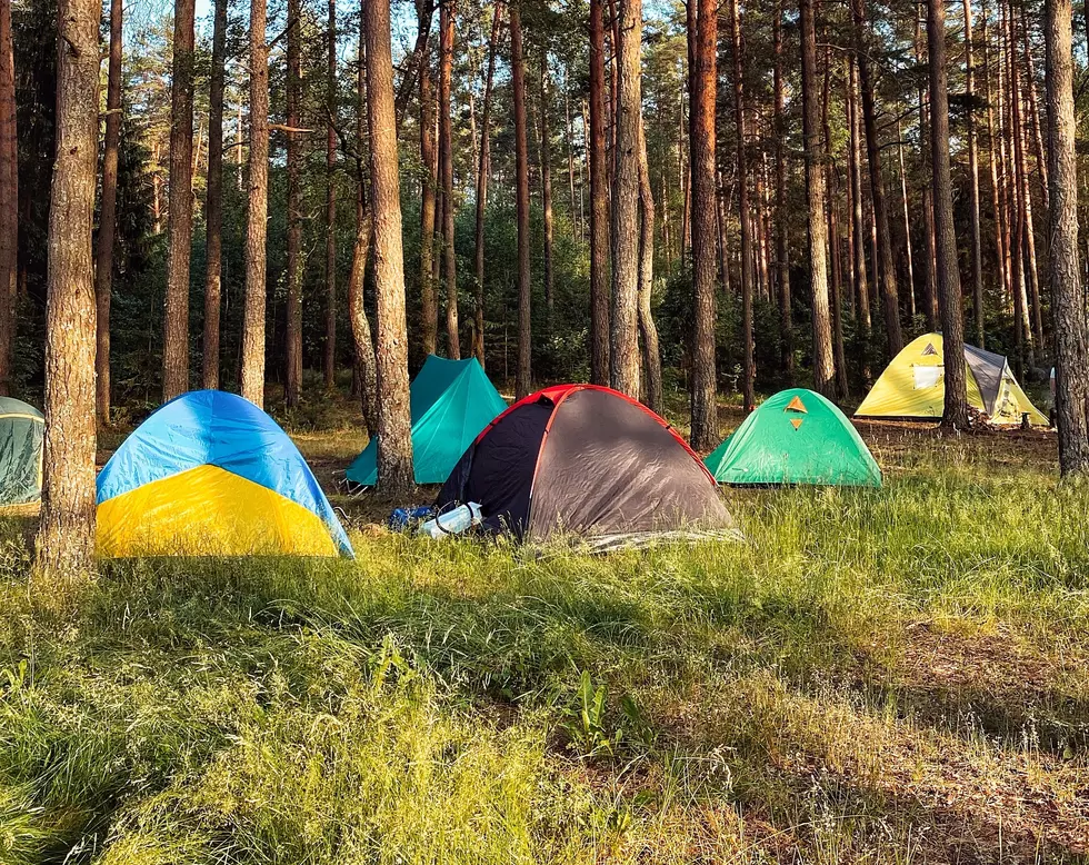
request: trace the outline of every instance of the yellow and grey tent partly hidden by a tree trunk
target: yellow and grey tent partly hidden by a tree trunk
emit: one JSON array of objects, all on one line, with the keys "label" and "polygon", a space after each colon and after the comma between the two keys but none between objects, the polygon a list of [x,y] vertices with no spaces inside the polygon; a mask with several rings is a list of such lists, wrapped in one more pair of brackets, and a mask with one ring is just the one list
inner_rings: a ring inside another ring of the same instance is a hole
[{"label": "yellow and grey tent partly hidden by a tree trunk", "polygon": [[[965,347],[968,402],[992,424],[1029,422],[1048,426],[1048,418],[1026,396],[1001,355]],[[873,385],[855,417],[938,419],[945,409],[945,342],[927,334],[893,358]]]}]

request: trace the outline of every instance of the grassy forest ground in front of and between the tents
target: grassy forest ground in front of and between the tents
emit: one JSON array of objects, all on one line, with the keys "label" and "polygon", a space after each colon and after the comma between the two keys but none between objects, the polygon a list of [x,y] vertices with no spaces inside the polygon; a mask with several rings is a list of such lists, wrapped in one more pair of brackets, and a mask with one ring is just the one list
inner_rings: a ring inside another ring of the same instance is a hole
[{"label": "grassy forest ground in front of and between the tents", "polygon": [[354,563],[58,598],[0,520],[0,863],[1089,862],[1089,489],[860,431],[883,490],[608,557],[388,534],[348,425],[296,440]]}]

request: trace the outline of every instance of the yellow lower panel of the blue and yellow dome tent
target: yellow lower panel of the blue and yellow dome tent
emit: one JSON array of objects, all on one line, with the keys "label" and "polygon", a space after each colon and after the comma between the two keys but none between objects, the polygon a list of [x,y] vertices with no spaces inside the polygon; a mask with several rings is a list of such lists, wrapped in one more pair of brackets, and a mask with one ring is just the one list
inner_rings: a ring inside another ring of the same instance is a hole
[{"label": "yellow lower panel of the blue and yellow dome tent", "polygon": [[144,484],[98,507],[98,554],[336,556],[321,517],[218,466]]}]

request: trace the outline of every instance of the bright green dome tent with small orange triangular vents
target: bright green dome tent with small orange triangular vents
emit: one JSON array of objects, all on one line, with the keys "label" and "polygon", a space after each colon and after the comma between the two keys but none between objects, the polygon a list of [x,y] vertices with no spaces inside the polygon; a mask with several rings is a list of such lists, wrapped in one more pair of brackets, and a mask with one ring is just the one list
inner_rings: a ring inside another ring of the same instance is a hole
[{"label": "bright green dome tent with small orange triangular vents", "polygon": [[851,421],[802,388],[768,399],[705,463],[720,484],[881,486],[881,469]]}]

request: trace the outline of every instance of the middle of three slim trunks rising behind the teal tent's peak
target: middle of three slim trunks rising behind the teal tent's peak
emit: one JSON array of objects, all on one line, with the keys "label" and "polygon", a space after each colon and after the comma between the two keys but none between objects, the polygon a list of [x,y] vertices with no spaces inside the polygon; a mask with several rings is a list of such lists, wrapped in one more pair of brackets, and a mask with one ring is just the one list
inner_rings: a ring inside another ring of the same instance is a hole
[{"label": "middle of three slim trunks rising behind the teal tent's peak", "polygon": [[453,19],[454,0],[443,0],[439,7],[439,168],[442,175],[442,275],[447,295],[447,355],[461,359],[461,337],[458,322],[458,256],[454,249],[453,199],[453,120],[451,89],[453,84]]}]

